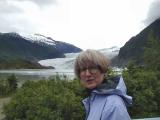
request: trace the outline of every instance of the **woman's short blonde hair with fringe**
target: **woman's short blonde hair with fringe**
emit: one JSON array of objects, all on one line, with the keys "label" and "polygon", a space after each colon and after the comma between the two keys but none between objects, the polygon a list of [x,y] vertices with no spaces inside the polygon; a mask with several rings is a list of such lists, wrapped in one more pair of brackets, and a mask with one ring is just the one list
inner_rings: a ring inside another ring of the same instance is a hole
[{"label": "woman's short blonde hair with fringe", "polygon": [[85,68],[87,64],[98,66],[102,73],[108,71],[109,59],[97,50],[88,49],[81,52],[75,60],[74,72],[75,75],[80,78],[80,70]]}]

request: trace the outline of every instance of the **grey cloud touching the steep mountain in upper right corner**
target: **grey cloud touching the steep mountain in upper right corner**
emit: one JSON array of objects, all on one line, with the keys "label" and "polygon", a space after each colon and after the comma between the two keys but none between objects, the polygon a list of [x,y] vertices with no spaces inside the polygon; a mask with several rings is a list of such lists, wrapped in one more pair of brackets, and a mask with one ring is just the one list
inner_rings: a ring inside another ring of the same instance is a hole
[{"label": "grey cloud touching the steep mountain in upper right corner", "polygon": [[145,25],[149,25],[159,18],[160,18],[160,0],[155,0],[150,5],[148,15],[144,23]]}]

